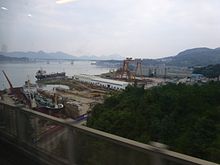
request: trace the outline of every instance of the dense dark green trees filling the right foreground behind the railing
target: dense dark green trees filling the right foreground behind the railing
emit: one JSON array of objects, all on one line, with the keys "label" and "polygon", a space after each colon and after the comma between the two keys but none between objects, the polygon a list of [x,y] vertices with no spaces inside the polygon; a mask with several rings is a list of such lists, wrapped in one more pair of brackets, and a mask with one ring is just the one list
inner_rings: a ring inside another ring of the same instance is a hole
[{"label": "dense dark green trees filling the right foreground behind the railing", "polygon": [[220,83],[128,87],[96,105],[87,124],[220,163]]}]

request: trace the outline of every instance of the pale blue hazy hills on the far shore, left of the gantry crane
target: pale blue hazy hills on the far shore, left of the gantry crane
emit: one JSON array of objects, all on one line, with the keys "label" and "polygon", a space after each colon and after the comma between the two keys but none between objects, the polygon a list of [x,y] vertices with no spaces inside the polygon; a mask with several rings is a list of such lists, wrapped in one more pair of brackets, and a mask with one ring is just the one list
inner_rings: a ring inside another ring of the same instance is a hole
[{"label": "pale blue hazy hills on the far shore, left of the gantry crane", "polygon": [[108,56],[95,56],[95,55],[86,55],[86,56],[73,56],[67,53],[63,52],[44,52],[44,51],[38,51],[38,52],[22,52],[22,51],[16,51],[16,52],[7,52],[3,53],[0,52],[0,54],[8,57],[16,57],[16,58],[29,58],[29,59],[77,59],[77,60],[111,60],[111,59],[123,59],[118,54],[112,54]]}]

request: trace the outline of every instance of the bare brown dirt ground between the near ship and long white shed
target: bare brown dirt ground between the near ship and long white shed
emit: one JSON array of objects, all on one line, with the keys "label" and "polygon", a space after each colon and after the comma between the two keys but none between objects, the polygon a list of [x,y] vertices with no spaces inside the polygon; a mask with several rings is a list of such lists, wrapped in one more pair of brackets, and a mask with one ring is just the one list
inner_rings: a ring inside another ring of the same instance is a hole
[{"label": "bare brown dirt ground between the near ship and long white shed", "polygon": [[108,89],[72,79],[44,80],[40,83],[61,84],[69,87],[69,89],[56,88],[56,94],[62,98],[65,114],[71,118],[77,118],[91,111],[95,104],[102,103],[104,97],[111,92]]}]

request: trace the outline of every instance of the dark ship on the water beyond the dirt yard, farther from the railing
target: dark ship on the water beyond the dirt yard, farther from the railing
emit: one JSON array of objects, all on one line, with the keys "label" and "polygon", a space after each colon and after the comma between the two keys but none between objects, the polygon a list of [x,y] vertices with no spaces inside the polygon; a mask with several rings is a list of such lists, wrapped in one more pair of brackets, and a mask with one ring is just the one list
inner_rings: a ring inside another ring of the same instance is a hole
[{"label": "dark ship on the water beyond the dirt yard, farther from the railing", "polygon": [[65,72],[57,72],[57,73],[50,73],[47,74],[45,70],[40,69],[37,71],[35,75],[37,80],[44,80],[44,79],[61,79],[66,77]]}]

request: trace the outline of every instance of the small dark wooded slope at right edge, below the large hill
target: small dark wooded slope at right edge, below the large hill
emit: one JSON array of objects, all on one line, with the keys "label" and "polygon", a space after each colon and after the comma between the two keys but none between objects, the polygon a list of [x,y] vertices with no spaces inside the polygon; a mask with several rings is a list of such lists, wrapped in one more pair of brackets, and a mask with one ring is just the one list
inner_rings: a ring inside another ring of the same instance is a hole
[{"label": "small dark wooded slope at right edge, below the large hill", "polygon": [[209,65],[202,68],[195,68],[193,73],[202,74],[208,78],[216,78],[220,76],[220,64]]}]

